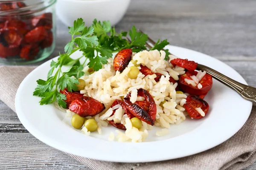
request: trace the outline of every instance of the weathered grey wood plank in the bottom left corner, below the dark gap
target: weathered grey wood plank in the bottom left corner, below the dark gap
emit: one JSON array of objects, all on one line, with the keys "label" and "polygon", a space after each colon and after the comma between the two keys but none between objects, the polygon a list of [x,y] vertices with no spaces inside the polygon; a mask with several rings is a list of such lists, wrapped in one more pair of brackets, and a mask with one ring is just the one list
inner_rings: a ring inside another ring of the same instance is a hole
[{"label": "weathered grey wood plank in the bottom left corner, below the dark gap", "polygon": [[87,170],[80,162],[44,144],[30,133],[0,133],[0,169]]}]

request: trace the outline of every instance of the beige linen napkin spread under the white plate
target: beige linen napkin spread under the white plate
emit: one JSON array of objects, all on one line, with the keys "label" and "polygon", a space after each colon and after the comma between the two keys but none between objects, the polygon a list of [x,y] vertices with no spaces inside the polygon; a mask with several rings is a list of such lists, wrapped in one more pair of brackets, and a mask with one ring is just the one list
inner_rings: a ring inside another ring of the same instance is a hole
[{"label": "beige linen napkin spread under the white plate", "polygon": [[[34,68],[28,66],[0,67],[0,100],[13,111],[15,111],[17,88]],[[116,163],[67,154],[93,170],[241,170],[256,161],[255,120],[256,105],[253,105],[245,125],[226,142],[202,153],[169,161]]]}]

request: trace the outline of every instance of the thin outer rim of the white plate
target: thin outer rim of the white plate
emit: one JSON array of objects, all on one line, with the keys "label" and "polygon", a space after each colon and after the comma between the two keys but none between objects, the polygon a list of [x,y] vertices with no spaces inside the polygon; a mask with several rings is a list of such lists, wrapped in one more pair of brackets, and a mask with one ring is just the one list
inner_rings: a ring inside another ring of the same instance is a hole
[{"label": "thin outer rim of the white plate", "polygon": [[[201,53],[201,52],[198,52],[198,51],[194,51],[194,50],[191,50],[191,49],[187,49],[187,48],[182,48],[182,47],[177,47],[177,46],[172,46],[172,45],[168,45],[168,48],[179,48],[180,50],[185,50],[185,51],[193,51],[193,52],[197,52],[197,53]],[[201,53],[201,54],[203,54],[203,53]],[[203,54],[203,55],[207,55],[207,54]],[[222,62],[222,61],[220,61],[220,60],[218,60],[218,59],[216,59],[216,58],[214,58],[214,57],[211,57],[211,56],[209,56],[209,55],[207,55],[208,57],[210,57],[210,58],[212,58],[212,59],[215,59],[215,60],[217,60],[218,62]],[[54,58],[52,58],[52,59],[49,59],[48,61],[46,61],[46,62],[44,62],[43,64],[41,64],[41,65],[39,65],[38,67],[43,67],[44,65],[47,65],[48,63],[50,63],[53,59],[56,59],[56,58],[58,58],[59,56],[57,56],[57,57],[54,57]],[[233,71],[235,71],[233,68],[231,68],[229,65],[227,65],[226,63],[224,63],[224,62],[222,62],[224,65],[226,65],[228,68],[230,68],[230,69],[232,69]],[[64,147],[61,147],[61,146],[59,146],[58,144],[53,144],[51,141],[48,141],[47,139],[44,139],[44,134],[42,135],[40,135],[40,132],[38,133],[38,131],[37,130],[35,130],[35,129],[32,129],[32,127],[30,127],[29,126],[29,122],[27,122],[26,121],[26,119],[25,119],[25,117],[24,117],[24,115],[22,115],[23,113],[21,113],[22,111],[21,111],[21,109],[19,108],[19,106],[18,106],[18,95],[20,94],[20,87],[22,87],[22,85],[26,82],[26,79],[28,79],[28,77],[29,77],[29,75],[30,74],[33,74],[35,71],[37,70],[37,68],[35,68],[33,71],[31,71],[29,74],[28,74],[28,76],[26,76],[26,78],[25,79],[23,79],[23,81],[21,82],[21,84],[20,84],[20,86],[19,86],[19,88],[18,88],[18,90],[17,90],[17,93],[16,93],[16,96],[15,96],[15,109],[16,109],[16,113],[17,113],[17,116],[18,116],[18,118],[20,119],[20,122],[23,124],[23,126],[29,131],[29,133],[31,133],[33,136],[35,136],[37,139],[39,139],[41,142],[44,142],[44,143],[46,143],[46,144],[48,144],[49,146],[51,146],[51,147],[54,147],[54,148],[56,148],[56,149],[58,149],[58,150],[61,150],[61,151],[64,151],[64,152],[67,152],[67,153],[70,153],[70,150],[69,149],[67,149],[67,148],[64,148]],[[237,71],[235,71],[237,74],[239,74]],[[239,74],[240,75],[240,74]],[[241,76],[241,75],[240,75]],[[244,80],[244,78],[243,77],[241,77],[243,80]],[[246,83],[246,81],[244,80],[244,82]],[[247,83],[246,83],[247,84]],[[251,102],[250,102],[251,103]],[[251,109],[252,109],[252,103],[250,104],[250,108],[248,108],[250,111],[251,111]],[[247,116],[247,118],[245,119],[245,121],[242,123],[242,126],[245,124],[245,122],[247,121],[247,119],[248,119],[248,117],[250,116],[250,113],[248,114],[248,116]],[[241,126],[241,127],[242,127]],[[241,127],[237,127],[236,128],[236,130],[233,130],[233,131],[236,131],[235,133],[237,133],[237,131],[239,131],[240,130],[240,128]],[[172,157],[166,157],[166,158],[163,158],[163,157],[161,157],[161,158],[154,158],[154,159],[146,159],[146,160],[143,160],[143,159],[140,159],[140,160],[138,160],[138,161],[136,161],[136,160],[132,160],[132,161],[129,161],[130,159],[128,159],[128,161],[126,161],[126,160],[119,160],[119,159],[112,159],[112,158],[110,158],[110,157],[105,157],[105,158],[102,158],[102,156],[101,157],[95,157],[95,156],[87,156],[87,158],[90,158],[90,159],[97,159],[97,160],[102,160],[102,161],[115,161],[115,162],[150,162],[150,161],[163,161],[163,160],[169,160],[169,159],[177,159],[177,158],[182,158],[182,157],[185,157],[185,156],[190,156],[190,155],[194,155],[194,154],[196,154],[196,153],[201,153],[201,152],[203,152],[203,151],[205,151],[205,150],[209,150],[209,149],[211,149],[212,147],[215,147],[215,146],[217,146],[217,145],[219,145],[219,144],[221,144],[221,143],[223,143],[223,142],[225,142],[226,140],[228,140],[228,139],[230,139],[230,137],[232,137],[235,133],[233,133],[232,135],[230,135],[230,136],[228,136],[226,139],[223,139],[222,141],[219,141],[219,142],[217,142],[217,143],[215,143],[215,144],[212,144],[211,146],[208,146],[207,147],[207,149],[206,148],[201,148],[201,149],[198,149],[198,150],[196,150],[196,151],[194,151],[194,152],[192,152],[192,153],[183,153],[183,154],[180,154],[180,156],[172,156]],[[181,135],[182,136],[182,135]],[[177,137],[179,137],[179,136],[177,136]],[[175,137],[176,138],[176,137]],[[173,138],[172,138],[173,139]],[[105,142],[108,142],[108,141],[105,141]],[[157,142],[157,141],[154,141],[154,142]],[[159,142],[159,141],[158,141]],[[140,144],[138,144],[138,145],[141,145],[141,144],[145,144],[145,143],[151,143],[151,142],[144,142],[144,143],[140,143]],[[75,154],[75,153],[70,153],[70,154]],[[83,155],[80,155],[80,154],[75,154],[75,155],[77,155],[77,156],[82,156],[82,157],[84,157]]]}]

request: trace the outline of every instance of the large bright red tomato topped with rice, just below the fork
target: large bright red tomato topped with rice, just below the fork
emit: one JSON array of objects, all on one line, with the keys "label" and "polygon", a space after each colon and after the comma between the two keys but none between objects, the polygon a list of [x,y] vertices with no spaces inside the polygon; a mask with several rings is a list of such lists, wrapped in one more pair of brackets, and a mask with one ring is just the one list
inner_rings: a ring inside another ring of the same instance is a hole
[{"label": "large bright red tomato topped with rice, just below the fork", "polygon": [[202,85],[201,89],[199,89],[198,86],[193,87],[192,85],[186,83],[185,79],[191,79],[190,76],[196,76],[197,73],[197,71],[186,71],[185,74],[180,76],[179,85],[183,92],[199,96],[206,94],[212,88],[212,76],[209,74],[206,74],[199,82]]}]

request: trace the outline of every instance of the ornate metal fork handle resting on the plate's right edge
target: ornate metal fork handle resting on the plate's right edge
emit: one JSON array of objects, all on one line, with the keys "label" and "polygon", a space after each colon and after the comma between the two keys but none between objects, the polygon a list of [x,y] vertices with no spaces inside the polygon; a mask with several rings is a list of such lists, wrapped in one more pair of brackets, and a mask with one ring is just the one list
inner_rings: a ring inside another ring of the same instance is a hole
[{"label": "ornate metal fork handle resting on the plate's right edge", "polygon": [[240,94],[244,99],[249,100],[251,102],[256,102],[256,88],[253,88],[248,85],[244,85],[240,82],[237,82],[229,77],[219,73],[218,71],[213,70],[205,65],[198,64],[198,70],[204,70],[208,74],[210,74],[213,78],[217,79],[219,82],[227,85],[231,89],[235,90]]}]

